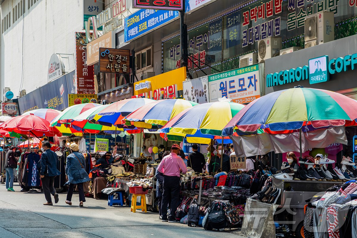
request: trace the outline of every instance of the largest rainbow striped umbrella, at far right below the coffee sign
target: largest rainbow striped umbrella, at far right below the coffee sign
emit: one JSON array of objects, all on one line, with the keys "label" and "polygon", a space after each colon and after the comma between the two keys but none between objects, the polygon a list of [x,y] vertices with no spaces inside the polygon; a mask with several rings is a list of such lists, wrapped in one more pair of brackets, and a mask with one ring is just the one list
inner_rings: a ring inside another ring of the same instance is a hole
[{"label": "largest rainbow striped umbrella, at far right below the coffee sign", "polygon": [[269,93],[249,103],[223,129],[291,133],[331,126],[356,125],[357,101],[340,93],[315,88],[290,88]]}]

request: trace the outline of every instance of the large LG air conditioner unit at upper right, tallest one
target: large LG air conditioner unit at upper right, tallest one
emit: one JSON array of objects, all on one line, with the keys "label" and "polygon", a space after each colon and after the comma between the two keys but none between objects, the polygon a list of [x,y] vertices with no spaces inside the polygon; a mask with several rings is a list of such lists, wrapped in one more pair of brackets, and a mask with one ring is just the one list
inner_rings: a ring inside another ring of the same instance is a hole
[{"label": "large LG air conditioner unit at upper right, tallest one", "polygon": [[333,12],[323,11],[305,18],[305,48],[335,40]]}]

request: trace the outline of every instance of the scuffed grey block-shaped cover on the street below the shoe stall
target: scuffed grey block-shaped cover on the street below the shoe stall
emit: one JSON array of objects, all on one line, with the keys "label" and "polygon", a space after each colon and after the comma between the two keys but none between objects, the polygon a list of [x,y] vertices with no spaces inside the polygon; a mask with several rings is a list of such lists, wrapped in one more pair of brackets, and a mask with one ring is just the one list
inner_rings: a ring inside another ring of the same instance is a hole
[{"label": "scuffed grey block-shaped cover on the street below the shoe stall", "polygon": [[242,224],[243,235],[250,238],[275,238],[273,214],[278,205],[248,198]]}]

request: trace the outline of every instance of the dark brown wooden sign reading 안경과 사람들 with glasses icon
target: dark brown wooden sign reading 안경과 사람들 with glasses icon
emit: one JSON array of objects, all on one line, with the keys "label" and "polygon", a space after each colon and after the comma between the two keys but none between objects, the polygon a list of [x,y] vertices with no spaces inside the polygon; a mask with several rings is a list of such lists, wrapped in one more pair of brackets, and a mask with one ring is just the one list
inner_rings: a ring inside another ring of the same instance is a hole
[{"label": "dark brown wooden sign reading \uc548\uacbd\uacfc \uc0ac\ub78c\ub4e4 with glasses icon", "polygon": [[129,74],[130,50],[99,48],[99,72]]}]

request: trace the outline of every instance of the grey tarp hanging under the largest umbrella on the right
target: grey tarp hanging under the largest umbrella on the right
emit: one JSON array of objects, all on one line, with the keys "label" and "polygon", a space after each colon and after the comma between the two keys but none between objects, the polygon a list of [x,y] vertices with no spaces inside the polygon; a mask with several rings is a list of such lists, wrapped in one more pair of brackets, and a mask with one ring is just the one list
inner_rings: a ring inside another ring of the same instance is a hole
[{"label": "grey tarp hanging under the largest umbrella on the right", "polygon": [[[332,143],[347,145],[345,127],[331,127],[301,133],[301,147],[305,152],[310,148],[325,148]],[[265,155],[268,152],[284,153],[300,151],[299,132],[289,134],[262,133],[254,136],[230,136],[236,156]]]}]

